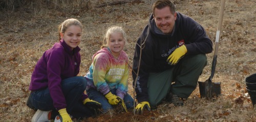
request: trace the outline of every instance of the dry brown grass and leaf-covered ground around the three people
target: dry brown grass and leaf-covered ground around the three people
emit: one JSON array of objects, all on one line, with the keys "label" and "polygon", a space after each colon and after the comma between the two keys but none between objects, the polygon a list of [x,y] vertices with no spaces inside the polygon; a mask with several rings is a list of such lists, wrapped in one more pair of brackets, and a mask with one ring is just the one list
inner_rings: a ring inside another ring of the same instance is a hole
[{"label": "dry brown grass and leaf-covered ground around the three people", "polygon": [[[175,2],[177,11],[201,23],[210,39],[215,42],[220,1]],[[153,0],[102,8],[88,5],[87,9],[76,6],[74,11],[69,12],[59,11],[64,9],[63,7],[68,7],[61,4],[58,5],[58,9],[54,9],[54,6],[53,8],[40,6],[33,9],[30,5],[16,11],[2,12],[0,14],[0,121],[31,120],[34,111],[26,106],[31,73],[42,53],[57,42],[59,23],[67,18],[77,18],[83,23],[83,41],[80,44],[82,64],[79,74],[83,76],[89,69],[92,55],[101,45],[105,29],[111,25],[119,25],[125,29],[130,43],[125,47],[125,51],[132,60],[135,41],[147,23],[152,3]],[[213,79],[214,82],[221,82],[221,97],[215,101],[201,99],[197,88],[185,101],[183,107],[168,107],[168,104],[163,103],[150,115],[132,116],[130,121],[256,121],[256,112],[252,108],[244,83],[247,76],[256,73],[255,6],[253,0],[226,0],[218,63]],[[212,55],[213,53],[207,54],[208,65],[200,76],[200,81],[205,81],[210,76]],[[131,82],[130,77],[129,93],[133,95]],[[236,104],[234,99],[240,96],[243,104]],[[131,112],[127,113],[130,114]],[[152,114],[154,117],[151,117]],[[101,121],[117,120],[115,117],[117,116],[113,115],[112,118],[108,117]],[[90,119],[93,120],[100,121],[97,118]]]}]

